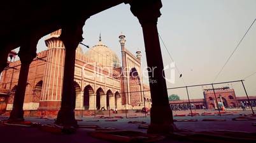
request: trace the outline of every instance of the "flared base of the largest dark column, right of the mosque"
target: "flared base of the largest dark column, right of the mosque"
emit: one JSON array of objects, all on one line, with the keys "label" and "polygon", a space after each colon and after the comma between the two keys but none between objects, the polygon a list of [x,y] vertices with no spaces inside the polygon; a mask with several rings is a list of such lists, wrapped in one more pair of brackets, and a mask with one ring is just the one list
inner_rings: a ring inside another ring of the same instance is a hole
[{"label": "flared base of the largest dark column, right of the mosque", "polygon": [[150,119],[148,134],[169,134],[169,132],[174,132],[174,130],[176,130],[173,123],[173,112],[169,105],[152,105],[152,108],[150,109]]}]

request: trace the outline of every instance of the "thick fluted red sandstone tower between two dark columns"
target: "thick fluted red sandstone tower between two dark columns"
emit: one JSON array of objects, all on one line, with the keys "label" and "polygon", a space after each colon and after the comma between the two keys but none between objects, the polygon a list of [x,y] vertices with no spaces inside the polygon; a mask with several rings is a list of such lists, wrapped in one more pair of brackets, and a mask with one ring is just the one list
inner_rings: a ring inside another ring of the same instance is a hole
[{"label": "thick fluted red sandstone tower between two dark columns", "polygon": [[60,108],[64,70],[65,48],[59,36],[61,29],[52,32],[45,39],[47,46],[46,66],[41,90],[39,109],[56,110]]}]

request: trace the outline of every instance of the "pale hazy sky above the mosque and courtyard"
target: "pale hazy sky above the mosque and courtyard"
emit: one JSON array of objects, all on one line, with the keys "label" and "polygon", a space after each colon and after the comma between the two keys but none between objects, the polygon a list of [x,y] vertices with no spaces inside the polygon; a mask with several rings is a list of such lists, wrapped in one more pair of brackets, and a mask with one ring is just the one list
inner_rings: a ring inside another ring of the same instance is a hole
[{"label": "pale hazy sky above the mosque and courtyard", "polygon": [[[239,40],[256,18],[256,0],[162,0],[162,15],[158,30],[176,67],[175,82],[167,87],[195,84],[211,84],[218,71],[237,46]],[[146,67],[143,33],[138,19],[132,15],[129,4],[120,4],[91,16],[83,27],[83,43],[96,45],[101,33],[103,43],[117,53],[121,59],[118,36],[126,36],[125,47],[135,54],[142,51],[142,66]],[[46,50],[48,35],[38,42],[38,52]],[[171,58],[160,41],[164,66],[171,64]],[[83,48],[84,51],[88,49]],[[256,72],[256,23],[241,42],[229,63],[215,82],[241,80]],[[153,58],[153,57],[152,57]],[[171,70],[166,70],[167,77]],[[144,82],[148,80],[143,77]],[[245,79],[249,95],[256,95],[256,74]],[[228,84],[216,85],[216,87]],[[241,83],[229,84],[236,96],[245,96]],[[206,88],[206,87],[204,87]],[[189,88],[191,99],[203,98],[203,87]],[[185,89],[168,90],[187,99]]]}]

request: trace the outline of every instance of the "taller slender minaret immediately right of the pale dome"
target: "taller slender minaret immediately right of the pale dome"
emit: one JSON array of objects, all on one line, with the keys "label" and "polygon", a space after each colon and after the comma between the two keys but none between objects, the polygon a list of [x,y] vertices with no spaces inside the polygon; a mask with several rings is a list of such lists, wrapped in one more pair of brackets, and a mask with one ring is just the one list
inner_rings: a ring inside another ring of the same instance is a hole
[{"label": "taller slender minaret immediately right of the pale dome", "polygon": [[[125,35],[121,33],[119,36],[119,42],[121,45],[121,52],[122,52],[122,73],[123,73],[123,79],[122,79],[122,84],[124,85],[124,90],[122,92],[125,92],[125,94],[122,94],[122,104],[131,104],[131,100],[129,98],[129,93],[128,93],[128,78],[127,78],[127,66],[126,66],[126,56],[125,56]],[[126,106],[126,105],[125,105]]]}]

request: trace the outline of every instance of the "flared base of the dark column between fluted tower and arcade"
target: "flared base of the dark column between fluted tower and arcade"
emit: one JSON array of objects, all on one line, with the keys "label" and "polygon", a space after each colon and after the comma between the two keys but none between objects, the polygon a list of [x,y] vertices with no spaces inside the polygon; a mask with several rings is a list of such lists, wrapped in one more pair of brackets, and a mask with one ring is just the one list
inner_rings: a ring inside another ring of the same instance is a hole
[{"label": "flared base of the dark column between fluted tower and arcade", "polygon": [[55,123],[63,127],[78,127],[75,111],[70,108],[60,108]]}]

